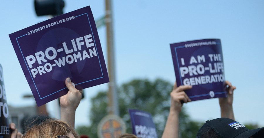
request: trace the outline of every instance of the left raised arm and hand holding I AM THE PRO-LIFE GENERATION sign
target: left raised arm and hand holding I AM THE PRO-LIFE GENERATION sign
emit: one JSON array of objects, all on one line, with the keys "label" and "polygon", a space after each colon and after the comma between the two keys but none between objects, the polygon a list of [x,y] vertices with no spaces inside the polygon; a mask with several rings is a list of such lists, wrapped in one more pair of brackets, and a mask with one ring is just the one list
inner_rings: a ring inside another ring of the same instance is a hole
[{"label": "left raised arm and hand holding I AM THE PRO-LIFE GENERATION sign", "polygon": [[162,138],[178,138],[179,137],[179,115],[182,110],[182,102],[190,102],[184,90],[191,89],[192,86],[184,85],[177,87],[175,82],[173,90],[170,93],[171,105],[170,113],[166,122],[166,126]]}]

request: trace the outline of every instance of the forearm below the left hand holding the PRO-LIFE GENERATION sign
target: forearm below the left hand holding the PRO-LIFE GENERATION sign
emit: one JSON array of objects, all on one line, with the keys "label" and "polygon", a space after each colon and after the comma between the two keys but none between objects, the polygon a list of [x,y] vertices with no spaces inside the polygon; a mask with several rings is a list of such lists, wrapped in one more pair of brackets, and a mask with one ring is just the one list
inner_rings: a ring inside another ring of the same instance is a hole
[{"label": "forearm below the left hand holding the PRO-LIFE GENERATION sign", "polygon": [[179,115],[170,111],[162,138],[179,138]]}]

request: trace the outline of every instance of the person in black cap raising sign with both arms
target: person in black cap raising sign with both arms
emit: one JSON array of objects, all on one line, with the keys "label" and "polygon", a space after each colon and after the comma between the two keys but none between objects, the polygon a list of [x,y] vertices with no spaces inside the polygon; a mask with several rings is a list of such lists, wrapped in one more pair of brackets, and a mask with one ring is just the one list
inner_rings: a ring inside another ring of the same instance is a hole
[{"label": "person in black cap raising sign with both arms", "polygon": [[[258,138],[264,137],[264,128],[258,128],[248,130],[242,124],[234,121],[233,113],[233,91],[236,89],[235,86],[229,81],[226,81],[226,88],[228,92],[227,97],[219,98],[219,105],[221,108],[221,117],[215,120],[207,121],[203,127],[200,128],[197,138],[212,138],[212,137],[231,137],[231,138]],[[162,135],[162,138],[178,138],[179,137],[179,115],[182,109],[183,102],[187,103],[191,100],[184,92],[185,90],[191,89],[192,86],[182,85],[177,87],[175,82],[173,90],[170,93],[171,96],[171,107],[170,113],[166,122],[166,126]],[[236,126],[232,126],[236,125]],[[239,128],[238,128],[239,126]],[[233,129],[236,129],[233,130]]]}]

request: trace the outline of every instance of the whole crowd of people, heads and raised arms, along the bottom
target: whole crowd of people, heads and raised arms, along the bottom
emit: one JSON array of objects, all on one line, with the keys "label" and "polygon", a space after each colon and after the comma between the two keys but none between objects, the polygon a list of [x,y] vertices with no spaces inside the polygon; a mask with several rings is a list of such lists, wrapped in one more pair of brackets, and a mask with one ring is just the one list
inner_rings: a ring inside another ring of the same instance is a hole
[{"label": "whole crowd of people, heads and raised arms, along the bottom", "polygon": [[[68,93],[60,97],[61,119],[47,118],[40,123],[32,122],[31,127],[22,134],[18,132],[14,123],[10,124],[11,138],[79,138],[75,131],[75,111],[80,103],[83,90],[77,90],[70,78],[65,80]],[[247,129],[243,124],[235,121],[233,113],[233,92],[236,89],[226,81],[227,97],[219,98],[221,118],[209,120],[197,132],[197,138],[260,138],[264,137],[264,128]],[[162,138],[179,137],[179,115],[184,103],[190,102],[185,90],[192,89],[190,85],[177,87],[174,84],[170,93],[171,105]],[[123,134],[119,138],[137,138],[134,134]]]}]

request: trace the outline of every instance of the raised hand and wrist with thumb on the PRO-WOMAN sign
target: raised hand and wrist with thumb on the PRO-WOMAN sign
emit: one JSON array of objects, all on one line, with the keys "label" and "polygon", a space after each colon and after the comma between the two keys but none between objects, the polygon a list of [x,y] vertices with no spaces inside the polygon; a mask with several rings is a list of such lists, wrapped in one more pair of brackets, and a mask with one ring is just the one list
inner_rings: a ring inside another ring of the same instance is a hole
[{"label": "raised hand and wrist with thumb on the PRO-WOMAN sign", "polygon": [[75,112],[81,101],[83,90],[73,87],[70,78],[65,80],[68,93],[60,97],[60,119],[75,128]]}]

